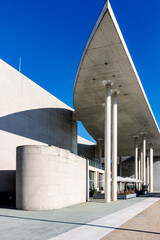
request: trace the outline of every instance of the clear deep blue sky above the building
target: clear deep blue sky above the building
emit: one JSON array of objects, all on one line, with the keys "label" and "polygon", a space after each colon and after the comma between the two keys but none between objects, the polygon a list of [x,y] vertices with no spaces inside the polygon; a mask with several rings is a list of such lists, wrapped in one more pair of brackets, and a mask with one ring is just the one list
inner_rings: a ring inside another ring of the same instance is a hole
[{"label": "clear deep blue sky above the building", "polygon": [[[105,0],[0,0],[0,58],[73,107],[85,43]],[[160,1],[110,0],[160,126]],[[79,134],[91,139],[79,126]]]}]

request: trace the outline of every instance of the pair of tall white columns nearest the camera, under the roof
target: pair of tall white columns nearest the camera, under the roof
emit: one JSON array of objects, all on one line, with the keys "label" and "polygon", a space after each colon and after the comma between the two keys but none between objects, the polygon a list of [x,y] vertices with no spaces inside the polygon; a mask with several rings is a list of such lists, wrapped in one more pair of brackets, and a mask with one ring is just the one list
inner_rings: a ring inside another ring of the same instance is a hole
[{"label": "pair of tall white columns nearest the camera, under the roof", "polygon": [[[111,201],[111,159],[112,159],[112,200],[117,200],[117,94],[118,90],[111,91],[113,82],[105,81],[105,201]],[[112,118],[111,118],[111,97]],[[112,132],[111,132],[112,129]],[[111,146],[112,145],[112,146]],[[112,149],[112,151],[111,151]],[[112,156],[111,156],[112,155]]]}]

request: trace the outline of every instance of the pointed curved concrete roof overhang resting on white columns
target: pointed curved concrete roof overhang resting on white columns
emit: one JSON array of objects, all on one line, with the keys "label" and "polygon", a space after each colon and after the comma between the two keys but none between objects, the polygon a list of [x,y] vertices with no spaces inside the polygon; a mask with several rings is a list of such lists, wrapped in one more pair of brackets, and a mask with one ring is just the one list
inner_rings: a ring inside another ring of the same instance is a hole
[{"label": "pointed curved concrete roof overhang resting on white columns", "polygon": [[147,133],[156,155],[160,154],[160,132],[109,1],[86,43],[74,87],[74,107],[91,136],[104,138],[105,88],[114,81],[118,95],[118,154],[131,155],[133,136]]}]

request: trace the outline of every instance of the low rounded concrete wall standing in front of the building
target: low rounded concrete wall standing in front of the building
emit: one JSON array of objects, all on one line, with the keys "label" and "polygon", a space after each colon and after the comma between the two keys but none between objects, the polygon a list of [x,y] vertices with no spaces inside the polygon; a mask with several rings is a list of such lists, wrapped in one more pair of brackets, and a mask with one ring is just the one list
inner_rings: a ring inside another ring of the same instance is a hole
[{"label": "low rounded concrete wall standing in front of the building", "polygon": [[47,146],[17,148],[16,207],[58,209],[86,201],[86,160]]}]

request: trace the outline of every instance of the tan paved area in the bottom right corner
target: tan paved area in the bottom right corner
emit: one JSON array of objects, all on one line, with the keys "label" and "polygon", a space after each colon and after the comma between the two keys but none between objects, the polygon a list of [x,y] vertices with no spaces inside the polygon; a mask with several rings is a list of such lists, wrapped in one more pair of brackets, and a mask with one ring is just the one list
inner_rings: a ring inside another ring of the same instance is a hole
[{"label": "tan paved area in the bottom right corner", "polygon": [[102,240],[160,239],[160,201],[121,225]]}]

